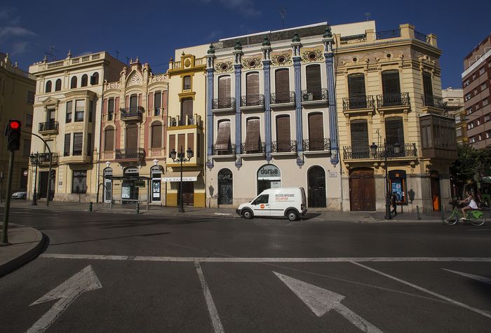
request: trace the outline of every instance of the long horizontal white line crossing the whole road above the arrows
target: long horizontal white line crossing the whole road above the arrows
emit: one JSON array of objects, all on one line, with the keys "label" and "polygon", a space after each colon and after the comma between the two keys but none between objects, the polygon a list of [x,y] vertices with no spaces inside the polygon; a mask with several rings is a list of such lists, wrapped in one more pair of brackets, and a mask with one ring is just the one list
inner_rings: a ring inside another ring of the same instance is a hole
[{"label": "long horizontal white line crossing the whole road above the arrows", "polygon": [[121,256],[101,254],[61,254],[43,253],[41,258],[91,259],[91,260],[132,260],[132,261],[176,261],[176,262],[397,262],[397,261],[461,261],[491,262],[491,257],[331,257],[331,258],[235,258],[235,257],[159,257],[159,256]]}]

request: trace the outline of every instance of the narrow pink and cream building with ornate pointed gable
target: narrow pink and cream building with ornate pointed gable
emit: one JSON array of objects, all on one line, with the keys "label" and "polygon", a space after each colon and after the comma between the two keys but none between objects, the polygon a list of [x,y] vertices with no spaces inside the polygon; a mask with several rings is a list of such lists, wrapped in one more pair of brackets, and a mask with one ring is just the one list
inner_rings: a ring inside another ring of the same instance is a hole
[{"label": "narrow pink and cream building with ornate pointed gable", "polygon": [[165,205],[167,76],[138,58],[120,70],[102,100],[100,199]]}]

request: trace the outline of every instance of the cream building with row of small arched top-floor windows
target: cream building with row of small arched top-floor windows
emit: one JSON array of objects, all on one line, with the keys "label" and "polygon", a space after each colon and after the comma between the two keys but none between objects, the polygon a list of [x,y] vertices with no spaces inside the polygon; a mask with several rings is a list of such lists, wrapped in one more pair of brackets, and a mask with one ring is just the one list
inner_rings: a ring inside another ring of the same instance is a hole
[{"label": "cream building with row of small arched top-floor windows", "polygon": [[[106,52],[63,60],[36,62],[33,133],[43,137],[53,154],[51,197],[55,201],[97,201],[100,175],[100,126],[105,81],[119,79],[125,64]],[[29,165],[29,197],[48,195],[49,154],[44,143],[32,139],[39,165]]]}]

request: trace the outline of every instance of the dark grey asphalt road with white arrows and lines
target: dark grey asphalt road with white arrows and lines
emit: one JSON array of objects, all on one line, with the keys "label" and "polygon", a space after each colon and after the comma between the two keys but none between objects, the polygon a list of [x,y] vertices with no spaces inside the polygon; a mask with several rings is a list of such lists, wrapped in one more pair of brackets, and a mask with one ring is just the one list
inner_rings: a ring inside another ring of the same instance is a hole
[{"label": "dark grey asphalt road with white arrows and lines", "polygon": [[490,332],[491,224],[15,210],[0,332]]}]

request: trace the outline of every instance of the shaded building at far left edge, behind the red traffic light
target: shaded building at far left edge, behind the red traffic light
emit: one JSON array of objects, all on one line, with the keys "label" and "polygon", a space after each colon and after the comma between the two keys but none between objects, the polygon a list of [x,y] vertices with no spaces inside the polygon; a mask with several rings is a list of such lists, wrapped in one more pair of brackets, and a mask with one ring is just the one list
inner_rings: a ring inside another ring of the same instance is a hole
[{"label": "shaded building at far left edge, behind the red traffic light", "polygon": [[[8,120],[22,122],[22,130],[32,130],[32,104],[34,104],[36,78],[13,64],[6,53],[0,53],[0,130],[3,132]],[[20,150],[15,151],[12,174],[12,191],[27,189],[27,168],[31,137],[22,133]],[[6,137],[0,135],[0,197],[5,198],[10,151],[6,149]],[[10,195],[11,193],[9,193]]]}]

